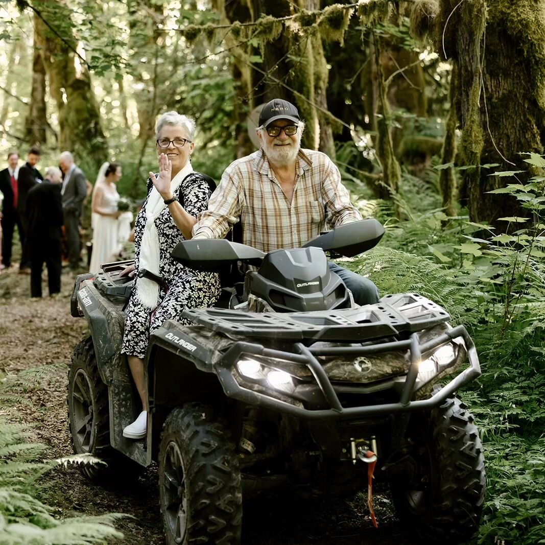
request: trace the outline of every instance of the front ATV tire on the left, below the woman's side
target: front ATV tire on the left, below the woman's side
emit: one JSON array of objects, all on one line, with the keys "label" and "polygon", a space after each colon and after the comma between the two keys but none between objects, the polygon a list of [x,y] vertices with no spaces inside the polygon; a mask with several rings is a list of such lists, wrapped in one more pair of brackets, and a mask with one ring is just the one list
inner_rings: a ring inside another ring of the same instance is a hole
[{"label": "front ATV tire on the left, below the woman's side", "polygon": [[240,543],[242,492],[235,446],[199,403],[169,414],[159,451],[159,496],[166,543]]}]

